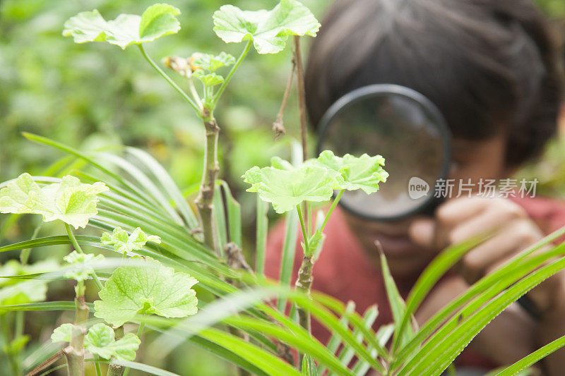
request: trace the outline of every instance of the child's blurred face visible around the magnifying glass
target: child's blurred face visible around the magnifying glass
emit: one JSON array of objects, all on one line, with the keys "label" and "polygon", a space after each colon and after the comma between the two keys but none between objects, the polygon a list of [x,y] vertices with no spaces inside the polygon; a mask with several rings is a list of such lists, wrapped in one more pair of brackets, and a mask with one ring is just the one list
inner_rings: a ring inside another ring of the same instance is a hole
[{"label": "child's blurred face visible around the magnifying glass", "polygon": [[[456,182],[471,178],[475,181],[473,186],[478,188],[476,182],[480,178],[499,179],[508,176],[509,171],[504,164],[505,150],[505,135],[480,141],[454,139],[453,162],[448,178],[453,178]],[[457,186],[453,188],[453,192],[457,192]],[[422,249],[412,242],[410,226],[422,216],[415,215],[396,222],[374,222],[347,212],[345,217],[350,229],[375,262],[379,262],[379,253],[374,242],[381,243],[395,277],[416,277],[439,252]]]}]

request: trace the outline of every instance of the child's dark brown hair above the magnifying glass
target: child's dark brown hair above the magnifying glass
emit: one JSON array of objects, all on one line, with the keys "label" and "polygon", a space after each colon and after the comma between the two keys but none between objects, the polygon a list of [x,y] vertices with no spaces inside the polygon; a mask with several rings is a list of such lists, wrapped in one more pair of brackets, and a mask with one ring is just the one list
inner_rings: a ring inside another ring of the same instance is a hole
[{"label": "child's dark brown hair above the magnifying glass", "polygon": [[508,135],[506,162],[535,157],[555,133],[561,62],[530,0],[338,0],[311,45],[311,122],[374,83],[421,92],[456,137]]}]

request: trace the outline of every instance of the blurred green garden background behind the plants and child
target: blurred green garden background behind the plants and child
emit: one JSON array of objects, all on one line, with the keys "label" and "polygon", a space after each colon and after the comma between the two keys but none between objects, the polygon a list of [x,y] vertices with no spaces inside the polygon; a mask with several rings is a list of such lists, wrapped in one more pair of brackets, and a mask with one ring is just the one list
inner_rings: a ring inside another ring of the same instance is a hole
[{"label": "blurred green garden background behind the plants and child", "polygon": [[[81,150],[112,145],[143,147],[167,167],[179,187],[190,190],[198,185],[203,129],[192,109],[179,100],[177,92],[148,66],[137,49],[121,51],[109,44],[74,44],[71,38],[61,36],[64,21],[80,11],[97,8],[103,16],[112,19],[119,13],[141,13],[153,2],[0,0],[0,181],[23,171],[42,174],[49,164],[63,156],[61,152],[26,141],[20,135],[26,131]],[[182,11],[179,16],[182,30],[149,44],[147,50],[153,59],[189,56],[194,51],[239,54],[241,45],[226,45],[212,31],[212,13],[225,3],[167,2]],[[303,2],[319,19],[329,4],[324,0]],[[564,0],[538,2],[553,18],[565,17]],[[276,1],[231,3],[254,10],[271,8]],[[220,176],[230,182],[242,202],[244,219],[249,219],[244,226],[249,231],[253,231],[255,198],[240,194],[243,187],[239,176],[250,166],[266,164],[275,154],[287,154],[290,139],[297,135],[294,95],[285,114],[288,135],[274,142],[270,131],[280,107],[290,59],[288,48],[277,55],[251,53],[230,83],[216,114],[222,128]],[[179,77],[170,75],[182,85]],[[526,167],[522,174],[537,176],[542,193],[564,195],[564,162],[564,141],[556,140],[542,162]],[[34,219],[23,217],[17,226],[12,226],[6,218],[0,217],[0,244],[28,238],[36,225]],[[49,226],[43,231],[49,232]],[[70,286],[61,288],[73,293]],[[54,291],[50,294],[61,290]],[[33,314],[30,317],[28,330],[37,334],[35,338],[48,341],[54,317]],[[182,375],[233,373],[225,363],[192,346],[178,348],[168,359],[152,359],[150,354],[143,354],[142,358]],[[0,360],[0,373],[7,369],[3,361]]]}]

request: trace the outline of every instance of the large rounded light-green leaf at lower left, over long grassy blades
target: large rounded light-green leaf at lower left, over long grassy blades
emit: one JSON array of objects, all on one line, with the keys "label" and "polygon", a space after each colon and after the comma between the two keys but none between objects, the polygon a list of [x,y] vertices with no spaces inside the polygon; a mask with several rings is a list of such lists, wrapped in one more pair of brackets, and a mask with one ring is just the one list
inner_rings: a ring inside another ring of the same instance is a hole
[{"label": "large rounded light-green leaf at lower left, over long grassy blades", "polygon": [[106,281],[94,302],[95,316],[119,327],[138,314],[185,317],[197,311],[198,299],[191,289],[198,281],[175,273],[150,257],[145,265],[119,267]]}]

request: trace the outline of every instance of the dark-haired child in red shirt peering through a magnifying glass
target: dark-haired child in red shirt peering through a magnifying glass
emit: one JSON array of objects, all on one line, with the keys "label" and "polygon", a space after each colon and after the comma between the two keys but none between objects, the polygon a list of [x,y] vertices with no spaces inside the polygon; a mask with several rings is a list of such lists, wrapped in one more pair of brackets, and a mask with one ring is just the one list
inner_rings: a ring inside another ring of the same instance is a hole
[{"label": "dark-haired child in red shirt peering through a magnifying glass", "polygon": [[[547,20],[530,0],[338,0],[309,54],[309,116],[316,126],[335,100],[358,87],[410,87],[431,99],[446,118],[453,135],[448,177],[500,179],[537,157],[556,131],[558,59]],[[371,222],[338,210],[326,226],[313,288],[354,301],[359,312],[378,304],[378,327],[392,319],[375,241],[407,295],[439,250],[500,228],[432,291],[416,315],[425,322],[477,279],[563,225],[565,205],[542,198],[451,198],[434,217],[397,222]],[[270,236],[270,277],[278,277],[283,235],[278,226]],[[295,276],[300,252],[297,245]],[[511,305],[475,337],[458,367],[484,372],[565,334],[562,274],[530,291],[528,298],[537,318]],[[329,334],[314,325],[314,335],[327,341]],[[565,375],[564,354],[555,352],[540,368],[547,375]]]}]

